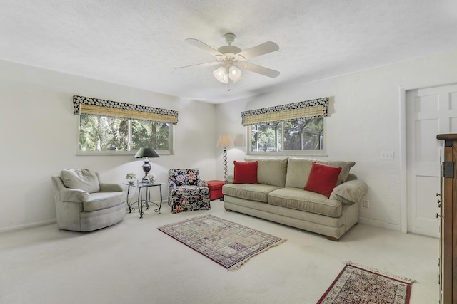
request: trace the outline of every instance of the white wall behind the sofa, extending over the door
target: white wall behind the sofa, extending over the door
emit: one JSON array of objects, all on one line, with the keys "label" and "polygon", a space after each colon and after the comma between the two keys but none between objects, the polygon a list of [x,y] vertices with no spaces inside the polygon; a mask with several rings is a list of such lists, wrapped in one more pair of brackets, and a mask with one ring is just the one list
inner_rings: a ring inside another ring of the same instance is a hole
[{"label": "white wall behind the sofa, extending over the door", "polygon": [[[280,76],[281,77],[281,76]],[[402,164],[400,89],[457,83],[457,51],[363,70],[313,83],[298,83],[274,93],[218,105],[219,133],[236,138],[229,149],[229,174],[233,160],[245,157],[241,111],[301,100],[329,97],[326,118],[327,157],[353,160],[351,172],[368,184],[368,209],[361,208],[361,222],[401,229]],[[393,151],[395,159],[380,159],[382,150]],[[221,158],[216,163],[221,162]],[[404,172],[403,172],[404,173]],[[404,202],[404,199],[403,199]]]}]

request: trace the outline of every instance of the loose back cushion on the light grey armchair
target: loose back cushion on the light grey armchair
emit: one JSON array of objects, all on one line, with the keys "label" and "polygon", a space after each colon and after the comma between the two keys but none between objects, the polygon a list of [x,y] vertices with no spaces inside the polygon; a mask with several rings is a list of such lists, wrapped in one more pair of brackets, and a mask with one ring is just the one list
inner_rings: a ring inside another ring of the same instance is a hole
[{"label": "loose back cushion on the light grey armchair", "polygon": [[89,169],[63,169],[60,172],[65,187],[80,189],[89,193],[99,192],[99,179],[95,172]]}]

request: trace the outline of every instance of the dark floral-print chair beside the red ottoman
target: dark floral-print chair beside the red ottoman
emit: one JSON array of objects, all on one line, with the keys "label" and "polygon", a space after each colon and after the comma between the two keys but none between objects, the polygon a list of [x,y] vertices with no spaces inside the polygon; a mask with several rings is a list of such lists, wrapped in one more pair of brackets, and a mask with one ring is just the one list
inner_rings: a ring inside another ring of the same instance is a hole
[{"label": "dark floral-print chair beside the red ottoman", "polygon": [[169,206],[173,213],[209,210],[209,188],[199,169],[169,169]]}]

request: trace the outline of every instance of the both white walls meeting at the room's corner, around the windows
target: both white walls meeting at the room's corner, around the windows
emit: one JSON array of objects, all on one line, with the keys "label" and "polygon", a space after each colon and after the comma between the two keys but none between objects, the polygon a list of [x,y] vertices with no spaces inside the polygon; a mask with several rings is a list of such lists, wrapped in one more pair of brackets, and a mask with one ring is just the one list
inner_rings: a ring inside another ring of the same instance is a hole
[{"label": "both white walls meeting at the room's corner, around the windows", "polygon": [[[221,179],[220,134],[231,135],[235,143],[228,150],[233,174],[233,160],[245,156],[241,111],[328,96],[328,157],[321,158],[356,161],[352,172],[368,184],[371,202],[369,209],[361,208],[361,221],[400,230],[400,88],[457,83],[457,51],[219,105],[5,61],[0,70],[0,231],[55,221],[50,177],[63,168],[89,167],[106,182],[124,182],[127,172],[142,174],[142,162],[129,156],[76,156],[73,95],[178,110],[176,154],[151,161],[163,182],[171,167],[199,167],[204,179]],[[379,159],[381,150],[394,151],[395,159]]]}]

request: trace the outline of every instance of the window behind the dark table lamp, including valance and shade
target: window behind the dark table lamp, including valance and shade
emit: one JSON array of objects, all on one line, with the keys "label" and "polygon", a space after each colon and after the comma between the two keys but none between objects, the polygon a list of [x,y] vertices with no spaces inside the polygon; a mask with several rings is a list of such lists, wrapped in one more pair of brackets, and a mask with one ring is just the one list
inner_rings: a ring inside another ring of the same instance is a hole
[{"label": "window behind the dark table lamp, including valance and shade", "polygon": [[74,113],[79,114],[77,154],[135,154],[140,147],[174,153],[176,111],[74,96]]}]

